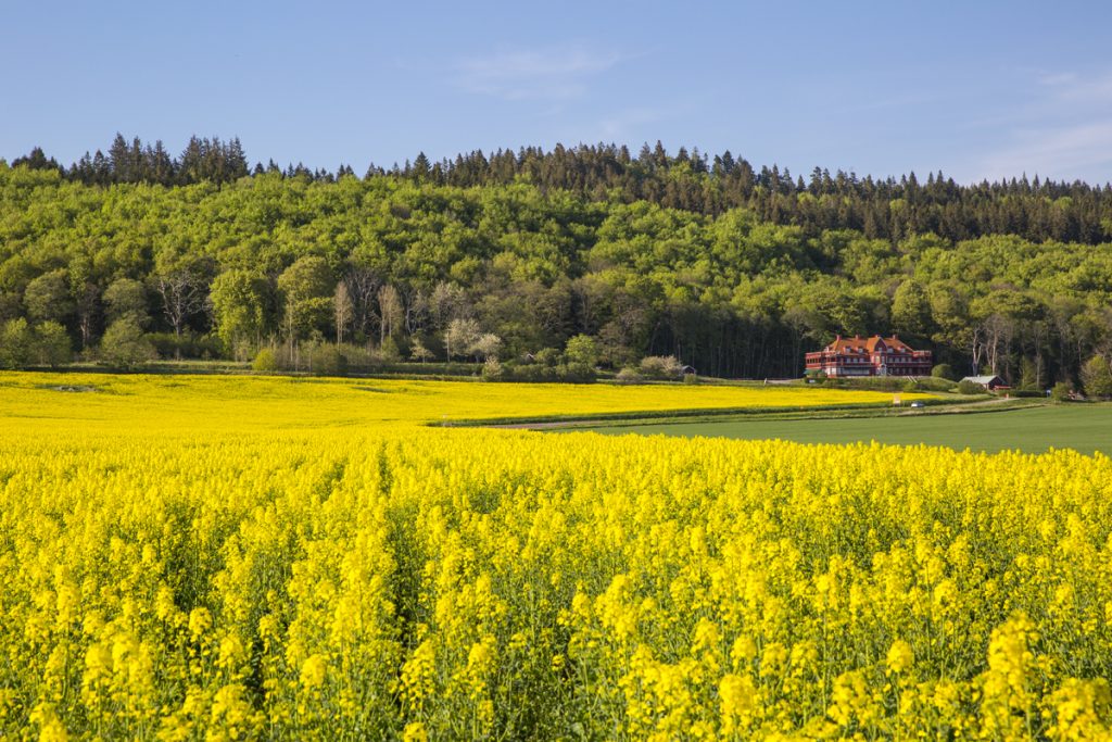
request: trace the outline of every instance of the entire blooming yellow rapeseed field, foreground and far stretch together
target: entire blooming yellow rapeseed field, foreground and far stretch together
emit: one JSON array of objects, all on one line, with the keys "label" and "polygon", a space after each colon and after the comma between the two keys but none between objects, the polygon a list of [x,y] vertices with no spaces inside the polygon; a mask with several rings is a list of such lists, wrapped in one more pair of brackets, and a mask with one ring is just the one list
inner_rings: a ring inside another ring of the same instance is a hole
[{"label": "entire blooming yellow rapeseed field, foreground and far stretch together", "polygon": [[842,399],[0,377],[0,738],[1109,739],[1112,459],[421,425]]}]

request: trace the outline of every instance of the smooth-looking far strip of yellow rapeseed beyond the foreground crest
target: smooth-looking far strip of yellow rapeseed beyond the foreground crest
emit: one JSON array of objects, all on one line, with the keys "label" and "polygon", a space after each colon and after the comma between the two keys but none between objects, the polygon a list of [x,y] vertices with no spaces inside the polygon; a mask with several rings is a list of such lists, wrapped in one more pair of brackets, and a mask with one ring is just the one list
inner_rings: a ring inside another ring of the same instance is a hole
[{"label": "smooth-looking far strip of yellow rapeseed beyond the foreground crest", "polygon": [[[483,384],[266,376],[0,374],[8,433],[299,434],[441,421],[668,409],[892,404],[892,394],[786,386]],[[904,394],[904,399],[927,395]],[[350,433],[350,431],[348,431]]]}]

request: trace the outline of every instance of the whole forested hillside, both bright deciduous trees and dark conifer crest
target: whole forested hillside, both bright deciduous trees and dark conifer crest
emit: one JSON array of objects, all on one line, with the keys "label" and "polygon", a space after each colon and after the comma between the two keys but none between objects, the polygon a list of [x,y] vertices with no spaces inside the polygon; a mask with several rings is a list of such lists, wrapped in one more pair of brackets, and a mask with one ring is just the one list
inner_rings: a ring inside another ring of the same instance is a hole
[{"label": "whole forested hillside, both bright deciduous trees and dark conifer crest", "polygon": [[659,145],[361,177],[250,168],[236,139],[0,161],[8,365],[129,340],[528,364],[575,338],[615,369],[675,355],[759,378],[801,374],[835,334],[895,332],[959,373],[1042,387],[1112,358],[1110,298],[1108,186],[804,179]]}]

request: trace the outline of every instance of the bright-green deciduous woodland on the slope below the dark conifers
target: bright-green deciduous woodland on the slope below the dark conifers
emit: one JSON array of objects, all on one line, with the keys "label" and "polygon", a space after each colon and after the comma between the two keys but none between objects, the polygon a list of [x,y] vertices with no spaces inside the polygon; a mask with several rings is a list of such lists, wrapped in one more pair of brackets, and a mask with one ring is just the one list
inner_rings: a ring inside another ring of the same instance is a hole
[{"label": "bright-green deciduous woodland on the slope below the dark conifers", "polygon": [[959,373],[1031,387],[1112,358],[1108,243],[893,240],[747,208],[418,180],[89,186],[0,165],[0,325],[54,349],[61,328],[91,358],[107,336],[140,357],[331,346],[620,369],[674,355],[757,378],[801,374],[804,352],[835,334],[896,332]]}]

